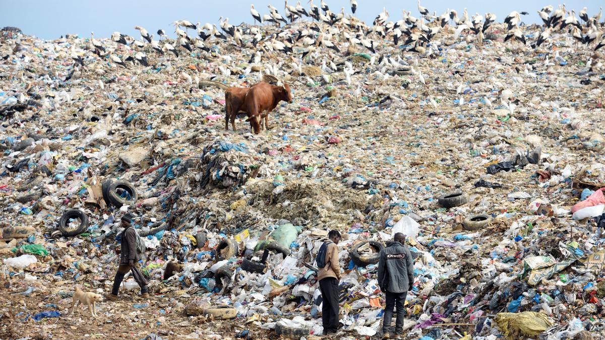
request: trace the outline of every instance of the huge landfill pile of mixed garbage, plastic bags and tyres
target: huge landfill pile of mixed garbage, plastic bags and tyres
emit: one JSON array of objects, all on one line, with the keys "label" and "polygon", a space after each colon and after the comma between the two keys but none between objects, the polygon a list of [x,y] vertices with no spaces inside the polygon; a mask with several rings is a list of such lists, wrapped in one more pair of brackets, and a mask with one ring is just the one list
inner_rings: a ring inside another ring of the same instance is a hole
[{"label": "huge landfill pile of mixed garbage, plastic bags and tyres", "polygon": [[[376,34],[376,54],[284,54],[252,31],[312,25],[242,24],[241,47],[169,40],[178,56],[0,31],[0,338],[312,339],[332,229],[341,338],[380,335],[378,253],[396,232],[414,254],[407,338],[604,335],[603,55],[563,31],[504,42],[500,23],[482,41],[446,25],[422,53]],[[260,134],[224,129],[209,81],[263,79],[293,103]],[[76,286],[111,290],[125,214],[152,298],[126,276],[97,318],[71,313]]]}]

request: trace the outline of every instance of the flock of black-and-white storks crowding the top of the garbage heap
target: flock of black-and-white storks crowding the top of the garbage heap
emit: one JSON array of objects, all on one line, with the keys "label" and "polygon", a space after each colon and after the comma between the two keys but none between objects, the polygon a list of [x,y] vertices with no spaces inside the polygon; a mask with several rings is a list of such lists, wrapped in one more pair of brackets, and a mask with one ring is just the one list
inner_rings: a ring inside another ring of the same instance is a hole
[{"label": "flock of black-and-white storks crowding the top of the garbage heap", "polygon": [[[162,29],[157,30],[158,40],[154,39],[154,34],[150,34],[145,28],[135,26],[140,32],[140,40],[126,36],[119,32],[111,35],[111,40],[116,42],[115,48],[109,48],[94,38],[91,33],[91,39],[88,40],[88,50],[94,51],[99,57],[107,57],[114,64],[126,67],[126,62],[133,64],[139,62],[143,66],[148,66],[149,62],[144,52],[155,51],[157,54],[174,54],[178,57],[185,51],[192,53],[194,50],[211,51],[211,45],[214,39],[223,39],[224,41],[235,44],[239,47],[257,48],[257,50],[281,52],[290,55],[296,55],[304,59],[310,54],[318,51],[324,53],[341,53],[343,49],[362,48],[373,55],[376,50],[387,45],[387,39],[393,41],[394,47],[403,48],[405,51],[416,52],[430,56],[442,44],[436,37],[446,27],[448,35],[440,37],[449,39],[449,42],[456,42],[462,39],[464,34],[466,41],[475,39],[477,44],[482,46],[485,35],[496,20],[493,13],[486,13],[484,16],[477,13],[469,18],[468,11],[464,9],[462,16],[459,16],[456,10],[446,10],[440,16],[435,12],[432,14],[426,8],[420,5],[418,0],[417,9],[419,16],[415,17],[410,11],[403,10],[403,17],[398,21],[388,21],[389,13],[383,8],[382,12],[376,16],[371,26],[366,25],[355,17],[358,9],[356,0],[350,0],[352,14],[346,15],[345,9],[341,8],[339,13],[333,13],[329,6],[321,0],[319,7],[309,1],[310,8],[307,10],[302,7],[300,1],[295,6],[289,5],[287,0],[284,6],[284,15],[281,15],[277,8],[268,5],[269,13],[261,15],[254,5],[250,6],[254,25],[235,26],[229,24],[229,18],[219,19],[220,30],[217,25],[206,23],[204,25],[198,22],[193,24],[187,20],[174,22],[174,31],[176,38],[169,39],[166,32]],[[504,40],[518,42],[518,44],[530,45],[533,48],[540,47],[546,41],[549,41],[551,34],[557,31],[561,34],[569,34],[578,44],[589,45],[594,50],[605,46],[605,34],[603,34],[604,22],[601,22],[602,8],[594,16],[589,16],[586,7],[579,13],[579,19],[575,10],[567,10],[565,5],[560,5],[556,10],[552,6],[546,6],[538,11],[543,21],[543,28],[537,39],[528,41],[528,36],[524,34],[525,25],[522,22],[522,16],[527,15],[526,11],[513,11],[504,19],[506,33]],[[306,24],[293,25],[298,20],[310,18],[311,22]],[[267,33],[259,24],[270,24],[281,27],[277,30],[271,30],[275,33]],[[282,26],[283,24],[283,26]],[[189,30],[195,30],[195,36],[189,35]],[[527,33],[527,32],[525,32]],[[491,38],[491,37],[490,37]],[[120,45],[130,45],[136,47],[136,53],[125,57],[122,60],[115,52],[120,50]],[[404,45],[403,47],[401,46]],[[151,48],[149,48],[151,47]],[[77,64],[84,66],[82,52],[77,53],[72,47],[71,57]],[[186,53],[186,52],[185,52]],[[258,57],[257,51],[255,56]]]}]

